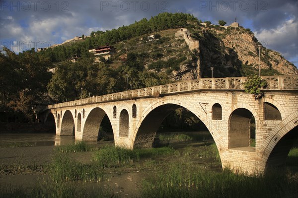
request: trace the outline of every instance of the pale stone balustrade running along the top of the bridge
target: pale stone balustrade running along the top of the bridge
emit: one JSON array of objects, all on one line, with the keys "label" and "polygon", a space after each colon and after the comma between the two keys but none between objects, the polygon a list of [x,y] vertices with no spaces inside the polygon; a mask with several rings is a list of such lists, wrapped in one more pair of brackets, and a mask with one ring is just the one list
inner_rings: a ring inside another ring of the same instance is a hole
[{"label": "pale stone balustrade running along the top of the bridge", "polygon": [[[298,89],[298,75],[287,76],[262,76],[268,82],[270,90],[293,90]],[[226,77],[226,78],[200,78],[197,80],[178,81],[175,83],[159,85],[154,87],[146,87],[112,93],[102,96],[93,96],[81,100],[74,100],[54,105],[49,108],[59,108],[67,106],[84,105],[89,103],[100,103],[108,101],[125,100],[132,98],[142,98],[150,96],[158,96],[159,94],[171,94],[177,92],[187,92],[194,90],[212,90],[212,89],[228,89],[228,90],[244,90],[244,82],[247,77]]]}]

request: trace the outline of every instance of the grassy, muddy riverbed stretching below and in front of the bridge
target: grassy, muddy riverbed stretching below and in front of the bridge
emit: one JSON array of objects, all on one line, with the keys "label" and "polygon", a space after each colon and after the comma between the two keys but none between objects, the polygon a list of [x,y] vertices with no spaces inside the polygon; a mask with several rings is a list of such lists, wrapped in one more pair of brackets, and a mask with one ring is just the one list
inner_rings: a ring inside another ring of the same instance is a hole
[{"label": "grassy, muddy riverbed stretching below and in front of the bridge", "polygon": [[111,141],[0,148],[0,197],[298,196],[297,161],[267,175],[235,175],[222,170],[212,140],[180,136],[163,137],[165,147],[134,151]]}]

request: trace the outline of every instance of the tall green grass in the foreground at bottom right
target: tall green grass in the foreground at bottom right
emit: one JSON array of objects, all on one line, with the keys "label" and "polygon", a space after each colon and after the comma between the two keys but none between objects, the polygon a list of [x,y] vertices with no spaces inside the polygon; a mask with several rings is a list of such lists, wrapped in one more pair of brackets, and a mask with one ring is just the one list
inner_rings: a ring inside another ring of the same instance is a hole
[{"label": "tall green grass in the foreground at bottom right", "polygon": [[214,172],[193,169],[180,164],[170,165],[144,180],[143,198],[276,198],[297,197],[297,183],[283,173],[272,175],[234,174],[230,170]]}]

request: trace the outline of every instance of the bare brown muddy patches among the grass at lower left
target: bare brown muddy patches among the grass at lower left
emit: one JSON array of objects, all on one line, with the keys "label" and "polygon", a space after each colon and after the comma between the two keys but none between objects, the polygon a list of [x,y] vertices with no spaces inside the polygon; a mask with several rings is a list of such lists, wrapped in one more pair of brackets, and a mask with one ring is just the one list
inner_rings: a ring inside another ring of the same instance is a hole
[{"label": "bare brown muddy patches among the grass at lower left", "polygon": [[[37,182],[50,179],[44,167],[51,162],[55,146],[32,146],[0,148],[0,188],[22,186],[25,189],[34,187]],[[90,162],[92,152],[72,153],[73,158],[81,163]],[[139,188],[148,173],[142,170],[122,169],[121,173],[109,172],[109,179],[99,183],[80,183],[87,191],[94,188],[108,188],[113,194],[121,197],[140,197]]]}]

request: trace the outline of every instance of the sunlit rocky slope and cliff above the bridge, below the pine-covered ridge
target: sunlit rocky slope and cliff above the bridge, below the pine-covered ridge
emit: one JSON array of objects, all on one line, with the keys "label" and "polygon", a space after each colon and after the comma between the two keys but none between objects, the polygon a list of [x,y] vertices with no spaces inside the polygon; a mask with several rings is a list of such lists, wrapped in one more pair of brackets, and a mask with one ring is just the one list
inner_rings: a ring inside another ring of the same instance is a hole
[{"label": "sunlit rocky slope and cliff above the bridge, below the pine-covered ridge", "polygon": [[[157,34],[160,38],[152,41],[146,34],[116,44],[111,66],[116,68],[128,53],[135,53],[148,70],[165,72],[173,80],[211,77],[211,66],[214,77],[258,73],[260,43],[249,29],[200,25]],[[296,66],[266,47],[261,50],[260,65],[262,75],[298,74]]]}]

